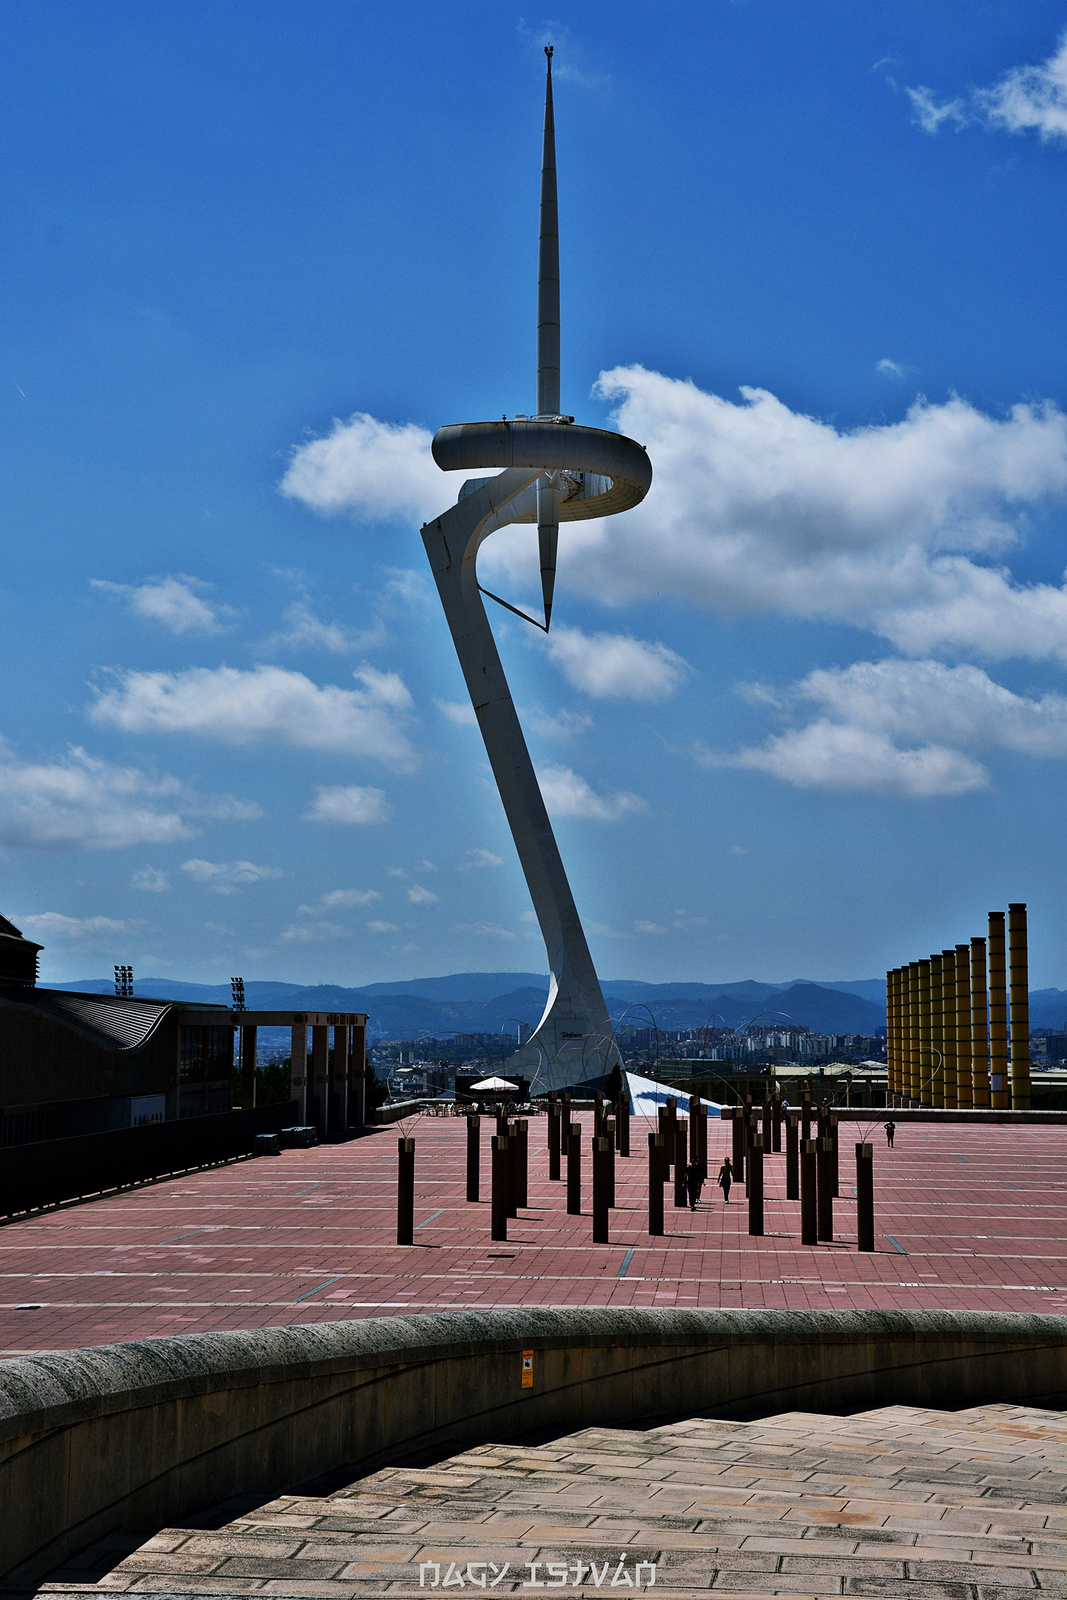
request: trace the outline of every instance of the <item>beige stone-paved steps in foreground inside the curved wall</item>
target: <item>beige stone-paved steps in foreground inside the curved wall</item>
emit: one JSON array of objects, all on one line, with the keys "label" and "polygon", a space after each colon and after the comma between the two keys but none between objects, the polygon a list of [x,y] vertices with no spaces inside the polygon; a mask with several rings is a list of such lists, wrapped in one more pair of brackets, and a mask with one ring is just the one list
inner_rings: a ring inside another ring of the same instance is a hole
[{"label": "beige stone-paved steps in foreground inside the curved wall", "polygon": [[38,1592],[1061,1600],[1065,1445],[1014,1405],[590,1427],[114,1538]]}]

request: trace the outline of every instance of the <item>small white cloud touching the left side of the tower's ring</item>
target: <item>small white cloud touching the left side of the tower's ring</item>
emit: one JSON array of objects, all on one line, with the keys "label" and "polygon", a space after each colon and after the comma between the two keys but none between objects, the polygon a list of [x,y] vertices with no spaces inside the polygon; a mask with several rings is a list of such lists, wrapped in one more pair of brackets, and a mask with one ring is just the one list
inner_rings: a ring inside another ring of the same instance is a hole
[{"label": "small white cloud touching the left side of the tower's ring", "polygon": [[426,522],[454,504],[469,472],[442,472],[434,435],[414,422],[379,422],[357,411],[334,418],[325,438],[299,445],[282,493],[326,515],[352,512],[379,522]]}]

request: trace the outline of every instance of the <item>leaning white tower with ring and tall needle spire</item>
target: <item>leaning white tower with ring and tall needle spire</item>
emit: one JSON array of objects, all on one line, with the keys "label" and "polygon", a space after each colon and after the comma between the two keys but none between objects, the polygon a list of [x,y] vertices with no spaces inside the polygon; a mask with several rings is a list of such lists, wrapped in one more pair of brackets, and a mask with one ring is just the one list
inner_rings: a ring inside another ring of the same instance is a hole
[{"label": "leaning white tower with ring and tall needle spire", "polygon": [[[600,992],[574,896],[545,811],[537,776],[485,614],[478,549],[498,528],[537,525],[544,622],[549,632],[560,522],[609,517],[637,506],[653,482],[645,450],[622,434],[581,427],[560,413],[560,238],[552,114],[552,46],[545,46],[541,234],[537,250],[537,413],[512,421],[458,422],[434,435],[443,472],[502,467],[469,478],[450,510],[422,528],[490,766],[549,955],[549,1002],[526,1043],[509,1058],[547,1088],[608,1072],[619,1048]],[[498,595],[490,595],[498,600]]]}]

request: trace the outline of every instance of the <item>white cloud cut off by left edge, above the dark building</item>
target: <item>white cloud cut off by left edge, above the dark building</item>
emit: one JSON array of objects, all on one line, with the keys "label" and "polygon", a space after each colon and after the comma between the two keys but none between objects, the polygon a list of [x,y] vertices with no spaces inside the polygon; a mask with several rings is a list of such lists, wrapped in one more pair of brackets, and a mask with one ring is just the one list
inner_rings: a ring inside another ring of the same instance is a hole
[{"label": "white cloud cut off by left edge, above the dark building", "polygon": [[0,742],[0,846],[168,845],[194,838],[186,818],[213,805],[176,778],[114,766],[78,747],[64,760],[26,762]]}]

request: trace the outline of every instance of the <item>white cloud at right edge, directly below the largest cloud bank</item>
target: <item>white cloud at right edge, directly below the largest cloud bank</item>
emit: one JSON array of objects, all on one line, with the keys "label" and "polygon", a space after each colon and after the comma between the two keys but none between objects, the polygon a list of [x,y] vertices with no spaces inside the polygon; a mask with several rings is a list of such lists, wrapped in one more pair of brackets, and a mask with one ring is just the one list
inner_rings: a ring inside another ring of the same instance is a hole
[{"label": "white cloud at right edge, directly below the largest cloud bank", "polygon": [[755,698],[819,715],[726,760],[806,789],[958,795],[989,782],[982,750],[1067,757],[1067,696],[1016,694],[974,666],[859,661]]}]

